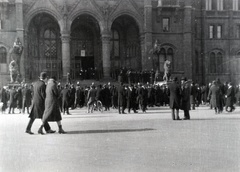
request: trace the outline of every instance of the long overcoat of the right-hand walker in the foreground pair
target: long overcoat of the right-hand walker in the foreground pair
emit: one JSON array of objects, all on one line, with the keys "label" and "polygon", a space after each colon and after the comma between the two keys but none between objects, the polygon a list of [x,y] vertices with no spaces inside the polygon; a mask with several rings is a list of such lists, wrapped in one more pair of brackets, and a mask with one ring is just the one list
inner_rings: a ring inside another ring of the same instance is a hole
[{"label": "long overcoat of the right-hand walker in the foreground pair", "polygon": [[47,119],[47,121],[62,120],[58,97],[57,83],[54,79],[49,79],[46,88],[45,110],[43,114],[43,118]]}]

